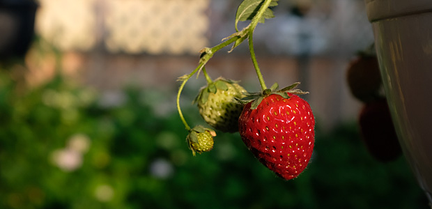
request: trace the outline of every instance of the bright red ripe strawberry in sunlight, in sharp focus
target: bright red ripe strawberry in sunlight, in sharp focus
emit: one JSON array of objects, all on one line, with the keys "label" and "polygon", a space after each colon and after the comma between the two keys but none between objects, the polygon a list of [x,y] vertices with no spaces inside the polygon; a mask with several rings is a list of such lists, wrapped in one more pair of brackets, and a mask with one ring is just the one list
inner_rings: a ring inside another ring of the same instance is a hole
[{"label": "bright red ripe strawberry in sunlight, in sharp focus", "polygon": [[279,92],[263,96],[256,107],[245,105],[240,115],[242,141],[258,160],[278,176],[297,177],[309,163],[314,149],[315,119],[309,104],[294,95]]}]

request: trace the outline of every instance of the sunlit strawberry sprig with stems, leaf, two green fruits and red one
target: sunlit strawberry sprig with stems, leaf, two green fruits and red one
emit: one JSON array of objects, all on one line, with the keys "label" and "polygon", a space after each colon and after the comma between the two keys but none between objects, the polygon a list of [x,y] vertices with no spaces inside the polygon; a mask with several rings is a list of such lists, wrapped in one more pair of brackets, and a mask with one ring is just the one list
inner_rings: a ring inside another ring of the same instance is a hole
[{"label": "sunlit strawberry sprig with stems, leaf, two green fruits and red one", "polygon": [[[309,104],[297,94],[299,83],[278,90],[265,85],[254,52],[254,30],[259,22],[274,17],[270,8],[277,0],[245,0],[236,13],[236,32],[224,38],[215,47],[201,50],[199,65],[189,74],[179,78],[182,82],[177,95],[177,108],[181,121],[189,132],[187,143],[192,154],[203,153],[213,147],[214,130],[196,125],[191,128],[180,109],[180,94],[186,82],[196,73],[203,72],[207,85],[201,88],[194,103],[210,126],[222,132],[240,132],[247,148],[265,167],[286,180],[297,177],[309,163],[314,149],[315,119]],[[242,30],[238,22],[250,20]],[[215,52],[231,46],[231,52],[247,40],[256,76],[262,91],[248,93],[237,82],[219,78],[213,81],[206,72],[206,64]],[[211,146],[210,146],[211,144]]]}]

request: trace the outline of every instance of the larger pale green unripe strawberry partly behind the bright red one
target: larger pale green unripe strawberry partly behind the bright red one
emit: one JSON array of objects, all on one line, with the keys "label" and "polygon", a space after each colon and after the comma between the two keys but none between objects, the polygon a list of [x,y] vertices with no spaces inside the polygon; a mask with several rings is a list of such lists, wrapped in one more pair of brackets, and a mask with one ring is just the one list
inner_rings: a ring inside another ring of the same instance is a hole
[{"label": "larger pale green unripe strawberry partly behind the bright red one", "polygon": [[216,130],[237,132],[243,104],[239,104],[234,98],[243,98],[243,93],[246,93],[245,88],[236,82],[218,78],[201,88],[194,102],[204,121]]}]

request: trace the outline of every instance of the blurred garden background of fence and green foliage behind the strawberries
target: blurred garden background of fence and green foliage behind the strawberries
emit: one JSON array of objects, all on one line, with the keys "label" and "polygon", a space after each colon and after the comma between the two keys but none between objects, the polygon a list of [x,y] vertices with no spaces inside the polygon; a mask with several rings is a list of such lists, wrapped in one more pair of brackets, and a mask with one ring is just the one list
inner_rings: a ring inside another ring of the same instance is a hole
[{"label": "blurred garden background of fence and green foliage behind the strawberries", "polygon": [[[0,0],[0,48],[30,34],[13,23],[31,15],[16,11],[38,5],[28,50],[0,52],[0,208],[429,208],[403,157],[377,162],[362,143],[345,80],[373,42],[360,0],[279,1],[256,29],[266,82],[310,92],[316,145],[304,173],[278,178],[238,133],[218,132],[212,151],[192,156],[176,79],[235,32],[240,2]],[[259,90],[247,45],[228,50],[210,76]],[[190,125],[203,124],[191,103],[204,84],[183,92]]]}]

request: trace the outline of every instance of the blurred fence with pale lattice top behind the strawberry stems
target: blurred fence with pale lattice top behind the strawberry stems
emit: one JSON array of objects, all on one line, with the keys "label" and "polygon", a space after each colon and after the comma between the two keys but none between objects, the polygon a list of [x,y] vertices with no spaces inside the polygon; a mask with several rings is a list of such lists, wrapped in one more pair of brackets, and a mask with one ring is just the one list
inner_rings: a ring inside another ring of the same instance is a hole
[{"label": "blurred fence with pale lattice top behind the strawberry stems", "polygon": [[[196,67],[199,49],[234,32],[240,2],[41,0],[36,26],[63,53],[68,75],[85,84],[118,92],[134,83],[174,95],[176,78]],[[355,52],[373,41],[363,1],[279,1],[275,15],[254,36],[269,85],[301,81],[328,127],[355,118],[360,104],[348,94],[344,73]],[[245,44],[231,54],[222,50],[208,63],[210,75],[258,86],[248,56]],[[31,70],[33,77],[47,74],[39,68]]]}]

